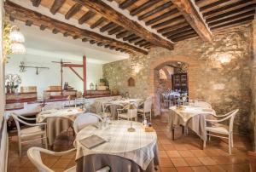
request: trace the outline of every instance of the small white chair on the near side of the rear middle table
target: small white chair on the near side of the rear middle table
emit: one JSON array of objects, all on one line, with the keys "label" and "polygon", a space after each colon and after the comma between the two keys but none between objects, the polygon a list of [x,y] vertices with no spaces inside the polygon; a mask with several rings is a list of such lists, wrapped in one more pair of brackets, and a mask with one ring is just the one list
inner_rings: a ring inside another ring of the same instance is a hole
[{"label": "small white chair on the near side of the rear middle table", "polygon": [[125,118],[130,121],[130,119],[134,118],[137,121],[137,109],[128,109],[129,106],[125,106],[122,109],[117,109],[118,112],[118,120],[119,118]]}]

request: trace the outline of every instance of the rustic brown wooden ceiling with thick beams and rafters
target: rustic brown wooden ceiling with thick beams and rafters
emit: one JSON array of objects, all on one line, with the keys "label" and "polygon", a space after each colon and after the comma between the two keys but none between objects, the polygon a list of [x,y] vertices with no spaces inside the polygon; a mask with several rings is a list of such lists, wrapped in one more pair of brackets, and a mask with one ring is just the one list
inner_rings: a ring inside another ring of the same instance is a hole
[{"label": "rustic brown wooden ceiling with thick beams and rafters", "polygon": [[[173,49],[173,43],[190,37],[211,41],[215,30],[251,22],[256,7],[255,0],[26,1],[35,7],[44,6],[51,14],[63,14],[66,20],[77,20],[80,26],[90,26],[90,31],[7,1],[5,9],[10,20],[22,20],[26,26],[47,28],[107,49],[143,54],[154,46]],[[114,1],[118,10],[112,7]],[[128,11],[129,16],[119,11]]]}]

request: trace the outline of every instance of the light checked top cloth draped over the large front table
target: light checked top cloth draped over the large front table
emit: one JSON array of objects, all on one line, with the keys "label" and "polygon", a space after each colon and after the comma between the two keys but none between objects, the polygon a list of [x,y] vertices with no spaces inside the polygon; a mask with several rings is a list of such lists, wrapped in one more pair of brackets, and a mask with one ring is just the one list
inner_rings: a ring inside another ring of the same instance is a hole
[{"label": "light checked top cloth draped over the large front table", "polygon": [[[89,155],[113,155],[126,158],[137,163],[141,169],[148,168],[154,158],[158,158],[157,154],[157,135],[155,132],[145,132],[142,123],[133,122],[133,128],[136,132],[128,132],[131,122],[129,121],[113,121],[108,129],[97,129],[94,126],[88,126],[79,131],[75,146],[77,147],[76,160],[86,158]],[[110,141],[88,149],[83,146],[79,140],[90,135],[98,135],[105,140],[111,138]],[[158,160],[155,160],[158,162]],[[117,163],[118,164],[118,163]],[[84,164],[86,166],[86,164]],[[158,165],[158,164],[156,164]],[[86,169],[87,167],[84,167]],[[85,171],[85,170],[84,170]]]}]

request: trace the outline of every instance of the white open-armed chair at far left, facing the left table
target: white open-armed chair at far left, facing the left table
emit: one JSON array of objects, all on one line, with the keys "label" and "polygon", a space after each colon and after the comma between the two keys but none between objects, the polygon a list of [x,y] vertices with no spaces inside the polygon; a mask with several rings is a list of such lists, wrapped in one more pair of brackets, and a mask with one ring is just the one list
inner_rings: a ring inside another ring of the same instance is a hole
[{"label": "white open-armed chair at far left, facing the left table", "polygon": [[[47,135],[46,135],[46,123],[26,123],[24,120],[32,121],[36,120],[36,118],[25,118],[21,115],[11,113],[11,117],[14,118],[17,131],[18,131],[18,141],[19,141],[19,154],[21,156],[21,144],[23,142],[29,142],[34,140],[44,140],[45,148],[48,149],[48,142],[47,142]],[[30,128],[26,129],[20,129],[20,123],[23,123],[27,126],[30,126]],[[40,136],[37,139],[36,138]],[[24,140],[24,141],[23,141]]]}]

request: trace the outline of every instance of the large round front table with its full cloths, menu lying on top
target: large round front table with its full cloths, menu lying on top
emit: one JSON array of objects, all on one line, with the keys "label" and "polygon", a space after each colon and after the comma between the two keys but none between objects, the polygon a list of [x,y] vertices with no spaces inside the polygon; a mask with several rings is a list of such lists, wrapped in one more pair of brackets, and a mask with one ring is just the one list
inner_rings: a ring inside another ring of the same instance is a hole
[{"label": "large round front table with its full cloths, menu lying on top", "polygon": [[[135,129],[129,132],[128,129]],[[101,145],[84,146],[83,140],[96,135],[106,140]],[[159,165],[157,135],[155,131],[146,132],[143,123],[113,120],[107,127],[90,125],[76,135],[77,171],[96,171],[109,166],[111,171],[154,172]]]}]

